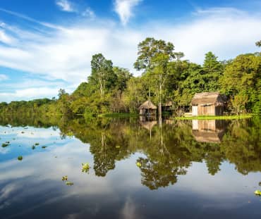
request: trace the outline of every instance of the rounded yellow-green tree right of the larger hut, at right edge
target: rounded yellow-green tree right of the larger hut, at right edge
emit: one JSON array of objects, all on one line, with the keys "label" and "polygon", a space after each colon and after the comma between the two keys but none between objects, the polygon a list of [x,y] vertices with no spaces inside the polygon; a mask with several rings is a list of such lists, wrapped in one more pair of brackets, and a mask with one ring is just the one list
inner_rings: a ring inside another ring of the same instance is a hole
[{"label": "rounded yellow-green tree right of the larger hut, at right edge", "polygon": [[[226,66],[221,77],[221,90],[230,96],[233,106],[260,113],[261,57],[255,54],[237,56]],[[238,104],[242,104],[238,106]]]}]

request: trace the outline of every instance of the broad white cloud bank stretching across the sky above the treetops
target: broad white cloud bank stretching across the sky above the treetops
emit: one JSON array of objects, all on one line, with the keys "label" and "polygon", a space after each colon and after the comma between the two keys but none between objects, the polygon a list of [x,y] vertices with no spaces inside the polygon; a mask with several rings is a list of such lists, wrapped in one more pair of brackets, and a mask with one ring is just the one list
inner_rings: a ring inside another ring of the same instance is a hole
[{"label": "broad white cloud bank stretching across the sky above the treetops", "polygon": [[[137,58],[137,46],[145,37],[173,42],[176,51],[183,51],[186,59],[202,63],[207,51],[213,51],[220,60],[257,51],[255,42],[261,36],[258,28],[261,26],[260,15],[249,15],[233,8],[197,11],[187,23],[153,22],[135,29],[119,27],[109,20],[90,23],[90,19],[80,19],[67,27],[51,28],[44,34],[4,26],[3,30],[16,37],[10,44],[0,45],[0,66],[49,80],[64,80],[71,85],[71,90],[90,75],[90,61],[96,53],[104,54],[114,65],[135,73],[133,63]],[[23,99],[24,96],[28,99],[33,98],[32,94],[37,94],[37,98],[56,96],[61,88],[61,85],[55,88],[41,85],[36,89],[37,82],[32,86],[18,89],[13,94],[1,92],[1,99]]]}]

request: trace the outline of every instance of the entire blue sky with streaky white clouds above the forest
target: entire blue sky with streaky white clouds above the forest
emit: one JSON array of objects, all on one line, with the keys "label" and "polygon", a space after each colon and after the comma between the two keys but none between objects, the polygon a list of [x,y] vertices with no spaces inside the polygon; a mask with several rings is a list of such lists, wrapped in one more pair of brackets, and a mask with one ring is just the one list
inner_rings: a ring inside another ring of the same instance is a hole
[{"label": "entire blue sky with streaky white clouds above the forest", "polygon": [[258,51],[261,0],[0,0],[0,102],[73,92],[102,53],[133,75],[138,43],[172,42],[202,64]]}]

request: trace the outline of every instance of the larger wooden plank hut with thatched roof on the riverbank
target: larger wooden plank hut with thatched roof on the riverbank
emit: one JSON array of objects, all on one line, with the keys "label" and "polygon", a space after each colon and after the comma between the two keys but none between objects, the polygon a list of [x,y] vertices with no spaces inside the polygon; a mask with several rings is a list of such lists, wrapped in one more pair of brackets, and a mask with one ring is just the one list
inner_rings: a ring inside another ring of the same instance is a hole
[{"label": "larger wooden plank hut with thatched roof on the riverbank", "polygon": [[195,94],[191,101],[192,115],[223,115],[226,96],[219,92]]}]

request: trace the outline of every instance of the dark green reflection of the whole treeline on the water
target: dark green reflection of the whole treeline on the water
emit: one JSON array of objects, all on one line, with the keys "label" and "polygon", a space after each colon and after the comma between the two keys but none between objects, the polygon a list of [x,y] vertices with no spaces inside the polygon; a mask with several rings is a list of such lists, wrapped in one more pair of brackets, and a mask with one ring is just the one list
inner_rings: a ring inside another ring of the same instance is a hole
[{"label": "dark green reflection of the whole treeline on the water", "polygon": [[94,170],[105,176],[116,161],[139,152],[142,184],[150,189],[175,184],[178,175],[185,175],[192,162],[205,161],[210,174],[219,172],[223,161],[236,165],[242,174],[261,170],[260,118],[234,120],[226,129],[221,144],[197,142],[191,122],[176,121],[154,125],[151,130],[135,119],[99,119],[87,123],[68,118],[0,118],[0,124],[13,126],[59,127],[61,137],[73,134],[90,144]]}]

